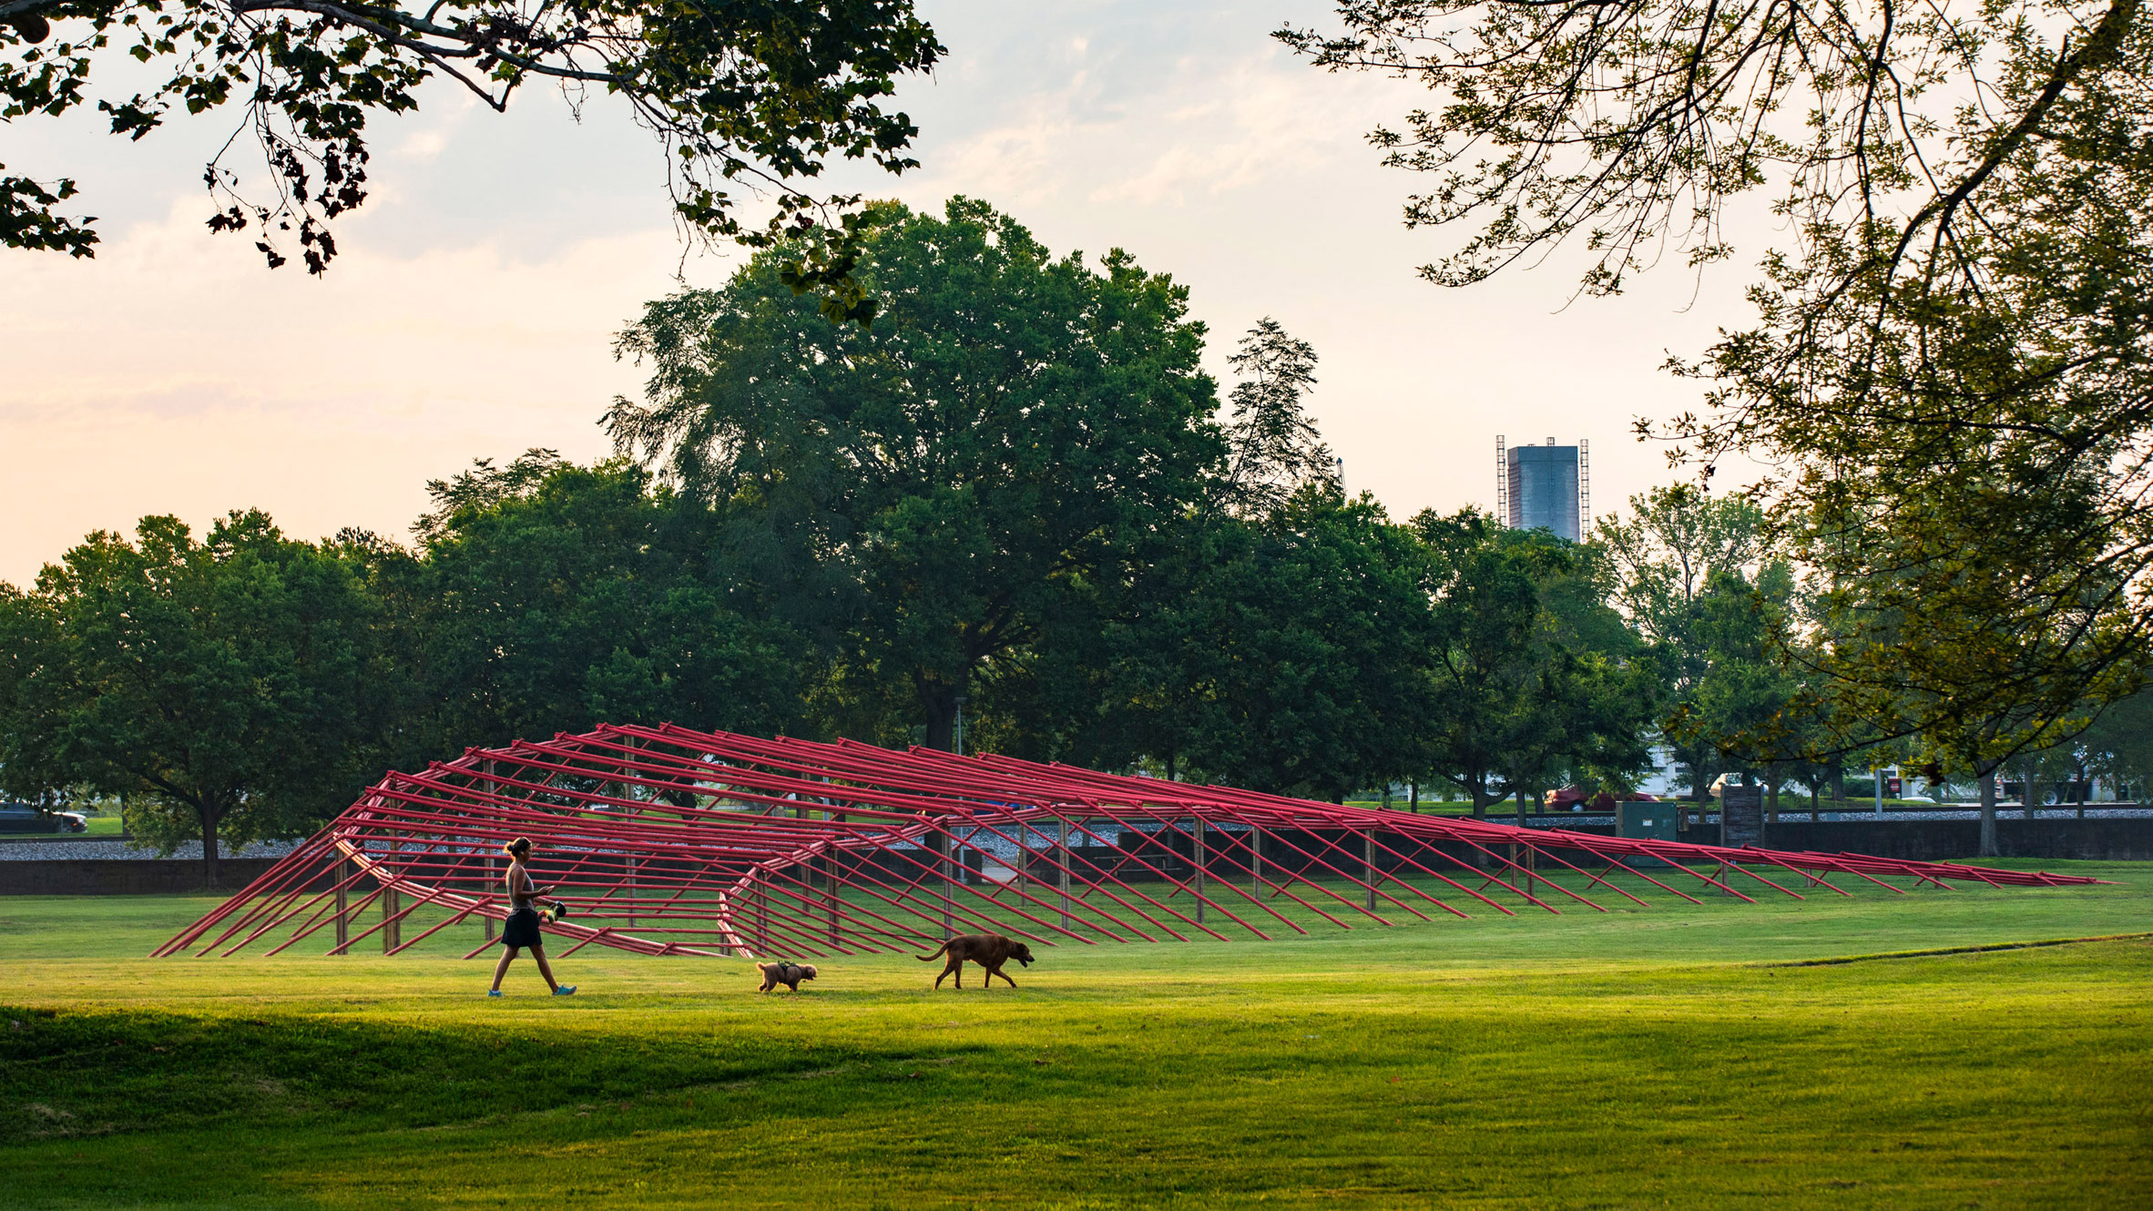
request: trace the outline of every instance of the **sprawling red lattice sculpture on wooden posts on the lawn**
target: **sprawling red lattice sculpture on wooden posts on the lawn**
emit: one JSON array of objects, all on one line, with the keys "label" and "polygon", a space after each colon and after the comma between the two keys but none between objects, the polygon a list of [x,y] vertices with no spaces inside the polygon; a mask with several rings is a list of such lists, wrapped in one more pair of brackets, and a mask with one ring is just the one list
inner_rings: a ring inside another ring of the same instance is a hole
[{"label": "sprawling red lattice sculpture on wooden posts on the lawn", "polygon": [[[1800,899],[1796,880],[1845,895],[1834,873],[1895,893],[1905,888],[1892,880],[2099,882],[1518,828],[1012,757],[607,725],[381,779],[157,955],[278,953],[323,931],[329,953],[372,936],[396,953],[459,923],[499,921],[512,837],[536,843],[538,882],[571,903],[545,925],[568,942],[562,953],[596,942],[644,955],[855,955],[971,931],[1038,944],[1270,938],[1466,908],[1606,912],[1600,899],[1647,906],[1660,893]],[[405,938],[407,921],[426,925]],[[493,946],[491,925],[484,938],[472,955]]]}]

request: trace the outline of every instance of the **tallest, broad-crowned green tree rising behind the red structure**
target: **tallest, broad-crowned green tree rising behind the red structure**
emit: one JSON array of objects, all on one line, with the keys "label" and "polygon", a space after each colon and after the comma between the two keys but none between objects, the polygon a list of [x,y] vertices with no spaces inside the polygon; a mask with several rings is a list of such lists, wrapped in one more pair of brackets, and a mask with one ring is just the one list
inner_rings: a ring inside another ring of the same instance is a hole
[{"label": "tallest, broad-crowned green tree rising behind the red structure", "polygon": [[1059,626],[1096,626],[1223,456],[1188,293],[1126,252],[1055,258],[988,204],[876,209],[872,329],[822,323],[786,250],[650,303],[614,441],[721,516],[738,566],[902,686],[947,749],[958,701]]}]

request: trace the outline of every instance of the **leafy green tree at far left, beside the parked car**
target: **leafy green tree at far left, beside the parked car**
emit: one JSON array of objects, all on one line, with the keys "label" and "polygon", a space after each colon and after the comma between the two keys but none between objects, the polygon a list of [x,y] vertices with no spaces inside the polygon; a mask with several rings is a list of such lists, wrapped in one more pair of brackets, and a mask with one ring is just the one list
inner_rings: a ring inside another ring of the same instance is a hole
[{"label": "leafy green tree at far left, beside the parked car", "polygon": [[202,542],[144,518],[0,594],[0,781],[88,785],[166,852],[308,828],[349,802],[372,604],[336,551],[235,512]]}]

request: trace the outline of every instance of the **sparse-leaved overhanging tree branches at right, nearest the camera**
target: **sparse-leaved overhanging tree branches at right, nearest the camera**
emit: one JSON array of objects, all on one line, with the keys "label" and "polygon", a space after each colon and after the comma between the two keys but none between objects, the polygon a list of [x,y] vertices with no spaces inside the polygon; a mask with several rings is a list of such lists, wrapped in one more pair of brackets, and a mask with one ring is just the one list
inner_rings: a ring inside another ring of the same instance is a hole
[{"label": "sparse-leaved overhanging tree branches at right, nearest the camera", "polygon": [[[1959,733],[1974,761],[2024,721],[2136,684],[2153,658],[2138,0],[1339,15],[1337,34],[1279,37],[1443,95],[1374,136],[1434,176],[1408,224],[1481,224],[1423,269],[1434,282],[1578,241],[1582,288],[1617,293],[1669,250],[1733,256],[1729,202],[1776,194],[1791,241],[1761,258],[1757,323],[1677,364],[1712,383],[1712,409],[1664,432],[1705,475],[1761,445],[1793,555],[1892,619],[1890,643],[1869,628],[1856,645],[1873,665],[1828,667],[1834,684],[1895,693],[1899,736]],[[1888,686],[1895,665],[1918,675]]]}]

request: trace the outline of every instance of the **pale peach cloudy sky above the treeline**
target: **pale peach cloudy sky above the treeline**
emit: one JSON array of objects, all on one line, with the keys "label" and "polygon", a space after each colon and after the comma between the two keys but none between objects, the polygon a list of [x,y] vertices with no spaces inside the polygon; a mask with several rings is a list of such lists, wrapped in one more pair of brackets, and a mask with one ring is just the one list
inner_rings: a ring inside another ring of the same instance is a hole
[{"label": "pale peach cloudy sky above the treeline", "polygon": [[[1275,316],[1322,359],[1309,407],[1348,488],[1393,516],[1492,508],[1496,434],[1589,439],[1593,512],[1679,475],[1632,426],[1699,407],[1662,364],[1744,323],[1742,275],[1669,267],[1574,299],[1557,256],[1462,290],[1421,282],[1455,237],[1404,230],[1421,183],[1363,136],[1427,95],[1315,71],[1268,37],[1324,26],[1324,4],[919,11],[949,47],[896,99],[921,168],[835,187],[984,198],[1055,252],[1126,247],[1191,288],[1221,389],[1236,340]],[[133,144],[95,114],[0,127],[9,172],[75,176],[105,241],[95,260],[0,252],[0,581],[144,514],[263,508],[297,538],[407,538],[426,482],[474,458],[601,458],[599,415],[642,387],[614,333],[738,265],[683,243],[657,144],[603,101],[577,116],[540,88],[495,114],[441,86],[372,129],[372,198],[308,277],[205,230],[200,166],[226,116]]]}]

